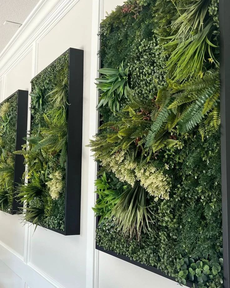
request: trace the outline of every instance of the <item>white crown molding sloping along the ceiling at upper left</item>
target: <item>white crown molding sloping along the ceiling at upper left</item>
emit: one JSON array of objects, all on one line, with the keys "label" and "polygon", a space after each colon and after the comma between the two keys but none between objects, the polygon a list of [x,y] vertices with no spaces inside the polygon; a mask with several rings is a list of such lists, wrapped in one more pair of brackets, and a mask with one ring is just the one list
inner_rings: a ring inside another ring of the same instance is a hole
[{"label": "white crown molding sloping along the ceiling at upper left", "polygon": [[32,11],[28,21],[26,20],[27,25],[22,25],[0,57],[0,78],[16,66],[25,57],[25,53],[32,50],[33,43],[47,35],[78,2],[79,0],[41,0],[38,10]]}]

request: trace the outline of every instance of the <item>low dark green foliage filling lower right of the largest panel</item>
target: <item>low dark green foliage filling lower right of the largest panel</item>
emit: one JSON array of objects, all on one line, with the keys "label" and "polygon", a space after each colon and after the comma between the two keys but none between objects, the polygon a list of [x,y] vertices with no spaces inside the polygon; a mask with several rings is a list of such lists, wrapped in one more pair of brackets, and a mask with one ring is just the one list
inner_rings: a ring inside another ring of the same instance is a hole
[{"label": "low dark green foliage filling lower right of the largest panel", "polygon": [[111,224],[97,229],[100,246],[170,275],[178,274],[175,263],[180,257],[205,258],[212,267],[222,258],[220,135],[203,142],[192,135],[180,140],[189,150],[171,148],[158,156],[169,165],[175,181],[170,199],[152,206],[152,232],[142,234],[138,243],[118,233],[114,221],[112,229]]}]

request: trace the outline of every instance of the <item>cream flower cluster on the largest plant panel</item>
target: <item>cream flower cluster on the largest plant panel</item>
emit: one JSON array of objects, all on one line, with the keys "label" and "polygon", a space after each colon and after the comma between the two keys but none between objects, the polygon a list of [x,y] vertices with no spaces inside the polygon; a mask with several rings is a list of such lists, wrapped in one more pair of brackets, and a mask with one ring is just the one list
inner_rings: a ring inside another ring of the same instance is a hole
[{"label": "cream flower cluster on the largest plant panel", "polygon": [[152,164],[140,167],[137,162],[127,159],[125,152],[122,151],[103,159],[102,165],[109,166],[120,181],[126,181],[131,186],[139,180],[148,193],[155,197],[155,200],[169,198],[171,179]]}]

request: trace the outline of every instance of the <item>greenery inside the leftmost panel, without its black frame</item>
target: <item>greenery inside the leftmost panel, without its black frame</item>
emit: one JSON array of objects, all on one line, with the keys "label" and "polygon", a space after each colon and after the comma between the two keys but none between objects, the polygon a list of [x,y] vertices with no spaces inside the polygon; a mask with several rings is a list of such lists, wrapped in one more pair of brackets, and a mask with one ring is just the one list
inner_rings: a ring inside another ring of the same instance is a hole
[{"label": "greenery inside the leftmost panel, without its black frame", "polygon": [[0,104],[0,209],[12,213],[17,94]]}]

